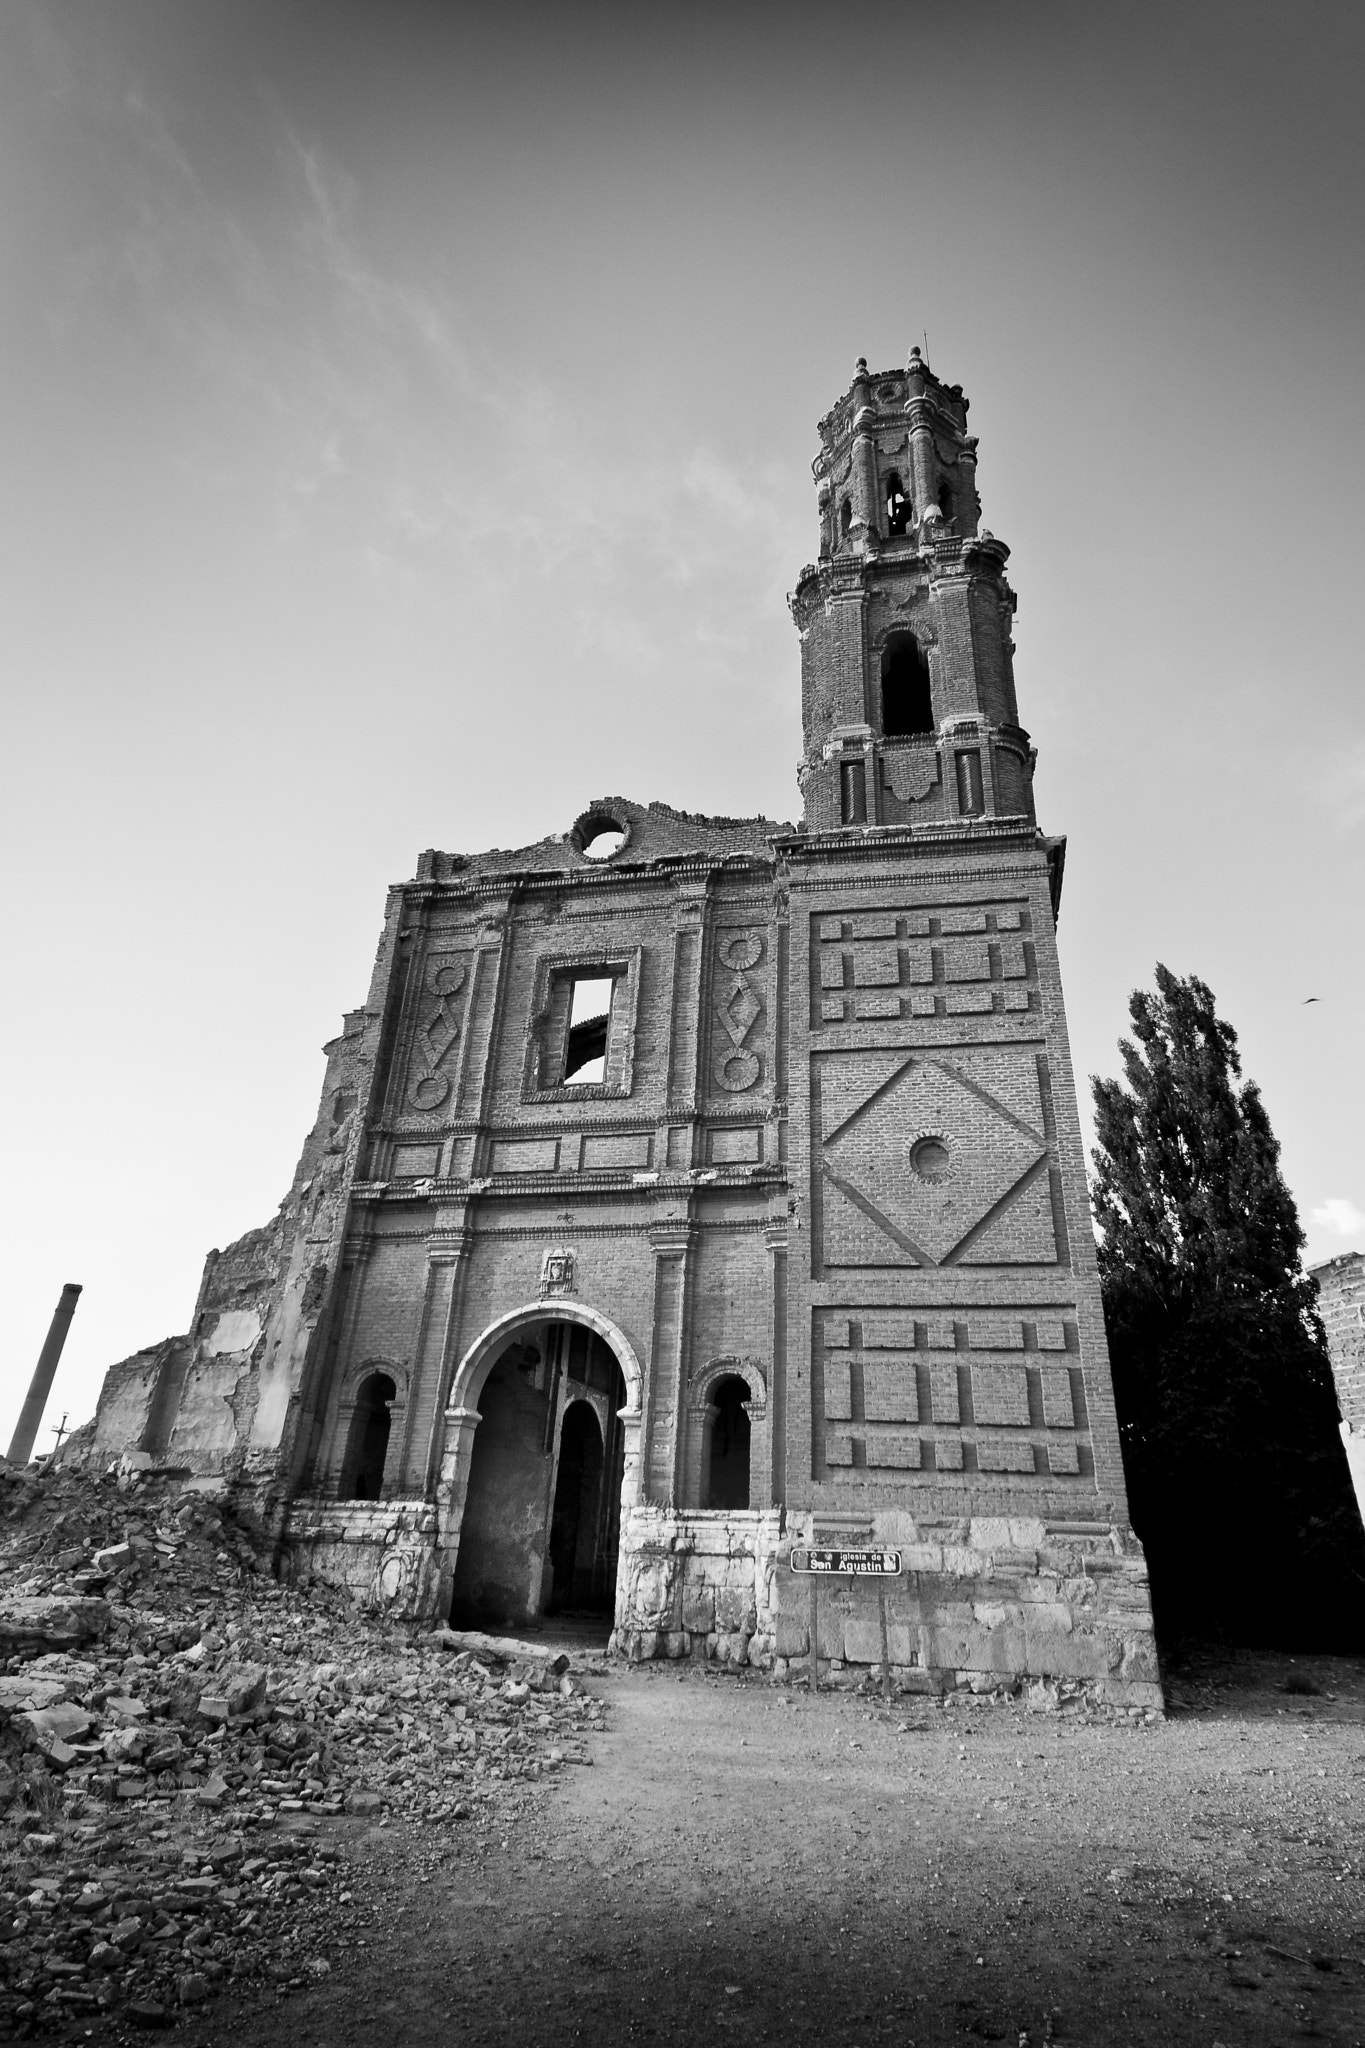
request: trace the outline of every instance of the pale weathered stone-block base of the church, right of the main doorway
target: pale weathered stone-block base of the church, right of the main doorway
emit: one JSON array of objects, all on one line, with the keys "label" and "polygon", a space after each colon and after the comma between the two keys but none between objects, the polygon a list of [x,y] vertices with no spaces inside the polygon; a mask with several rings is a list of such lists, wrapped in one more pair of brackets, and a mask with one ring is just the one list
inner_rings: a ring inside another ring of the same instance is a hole
[{"label": "pale weathered stone-block base of the church, right of the main doorway", "polygon": [[898,1579],[821,1579],[821,1675],[866,1675],[886,1655],[923,1694],[1081,1688],[1107,1706],[1162,1712],[1142,1548],[1111,1524],[1027,1518],[921,1522],[671,1513],[636,1507],[622,1530],[616,1651],[632,1661],[706,1657],[800,1675],[810,1659],[808,1542],[890,1546]]}]

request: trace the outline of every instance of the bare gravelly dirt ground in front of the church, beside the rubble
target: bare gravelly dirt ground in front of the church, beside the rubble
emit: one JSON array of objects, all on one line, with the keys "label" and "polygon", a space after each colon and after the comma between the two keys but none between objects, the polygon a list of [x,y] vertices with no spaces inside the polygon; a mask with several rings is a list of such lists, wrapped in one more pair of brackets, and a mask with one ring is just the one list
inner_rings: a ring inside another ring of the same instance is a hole
[{"label": "bare gravelly dirt ground in front of the church, beside the rubble", "polygon": [[591,1690],[593,1765],[505,1833],[332,1823],[332,1974],[176,2040],[1365,2040],[1365,1663],[1195,1657],[1154,1726],[677,1667]]}]

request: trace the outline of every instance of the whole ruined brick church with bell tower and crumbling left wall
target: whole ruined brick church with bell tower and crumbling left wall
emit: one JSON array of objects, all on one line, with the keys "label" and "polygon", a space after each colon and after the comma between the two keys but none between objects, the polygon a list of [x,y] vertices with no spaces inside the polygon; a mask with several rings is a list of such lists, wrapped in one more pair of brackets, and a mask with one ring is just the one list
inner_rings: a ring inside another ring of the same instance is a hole
[{"label": "whole ruined brick church with bell tower and crumbling left wall", "polygon": [[[636,1657],[802,1657],[792,1544],[896,1546],[913,1683],[1160,1700],[966,410],[913,350],[821,422],[804,823],[612,797],[424,854],[276,1221],[113,1368],[96,1456],[254,1489],[370,1602],[606,1606]],[[827,1591],[823,1653],[880,1620]]]}]

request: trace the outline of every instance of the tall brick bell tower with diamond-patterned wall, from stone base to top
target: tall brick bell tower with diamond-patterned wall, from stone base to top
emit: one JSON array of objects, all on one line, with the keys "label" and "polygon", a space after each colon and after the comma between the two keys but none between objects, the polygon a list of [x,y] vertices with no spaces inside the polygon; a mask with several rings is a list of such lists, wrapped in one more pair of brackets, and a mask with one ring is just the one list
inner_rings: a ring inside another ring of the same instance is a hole
[{"label": "tall brick bell tower with diamond-patterned wall, from stone base to top", "polygon": [[[821,551],[790,600],[788,1524],[905,1546],[892,1661],[935,1686],[1156,1706],[1056,952],[1064,840],[1033,817],[1009,551],[966,418],[919,348],[860,358],[819,426]],[[857,1589],[845,1606],[853,1657],[870,1620]]]}]

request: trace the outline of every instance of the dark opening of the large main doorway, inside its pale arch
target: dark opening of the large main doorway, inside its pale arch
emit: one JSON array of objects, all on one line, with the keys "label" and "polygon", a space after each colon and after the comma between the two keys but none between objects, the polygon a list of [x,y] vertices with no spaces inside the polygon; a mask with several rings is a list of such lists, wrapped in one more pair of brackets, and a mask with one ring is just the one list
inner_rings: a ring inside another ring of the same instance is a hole
[{"label": "dark opening of the large main doorway, inside its pale arch", "polygon": [[450,1618],[526,1626],[616,1597],[626,1382],[583,1323],[522,1325],[479,1391]]}]

